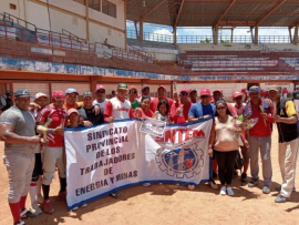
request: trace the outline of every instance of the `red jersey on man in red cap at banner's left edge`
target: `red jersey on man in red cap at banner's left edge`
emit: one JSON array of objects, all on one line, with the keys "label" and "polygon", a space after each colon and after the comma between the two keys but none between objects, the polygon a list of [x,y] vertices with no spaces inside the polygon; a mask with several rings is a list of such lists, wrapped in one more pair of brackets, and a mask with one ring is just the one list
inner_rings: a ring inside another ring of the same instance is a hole
[{"label": "red jersey on man in red cap at banner's left edge", "polygon": [[[42,113],[40,122],[49,122],[51,119],[51,123],[48,125],[49,129],[56,129],[59,125],[66,124],[66,111],[64,109],[56,109],[55,106],[50,106],[45,109]],[[48,134],[47,139],[49,140],[49,147],[61,147],[63,146],[63,135],[60,134]]]}]

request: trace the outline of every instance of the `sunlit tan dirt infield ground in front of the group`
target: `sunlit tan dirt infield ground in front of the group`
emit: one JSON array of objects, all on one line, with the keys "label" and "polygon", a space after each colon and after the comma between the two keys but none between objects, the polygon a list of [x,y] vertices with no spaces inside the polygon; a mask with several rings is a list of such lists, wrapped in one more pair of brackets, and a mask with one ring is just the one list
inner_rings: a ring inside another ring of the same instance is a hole
[{"label": "sunlit tan dirt infield ground in front of the group", "polygon": [[[3,153],[3,143],[0,143]],[[299,192],[293,192],[291,200],[285,204],[276,204],[275,191],[281,182],[278,166],[277,131],[272,135],[274,183],[271,193],[261,193],[262,183],[258,187],[240,186],[239,177],[234,180],[235,196],[220,196],[219,191],[200,184],[195,191],[182,185],[154,184],[151,187],[135,186],[120,191],[120,198],[102,197],[89,203],[76,212],[68,212],[65,203],[55,201],[59,191],[59,178],[51,186],[51,198],[54,203],[53,215],[42,214],[27,224],[133,224],[133,225],[188,225],[188,224],[299,224]],[[8,174],[0,164],[0,224],[12,224],[7,203]],[[260,171],[261,172],[261,171]],[[297,170],[298,172],[298,170]],[[261,175],[260,175],[261,176]],[[217,181],[217,183],[219,183]],[[299,180],[296,178],[299,191]],[[27,202],[29,206],[30,202]]]}]

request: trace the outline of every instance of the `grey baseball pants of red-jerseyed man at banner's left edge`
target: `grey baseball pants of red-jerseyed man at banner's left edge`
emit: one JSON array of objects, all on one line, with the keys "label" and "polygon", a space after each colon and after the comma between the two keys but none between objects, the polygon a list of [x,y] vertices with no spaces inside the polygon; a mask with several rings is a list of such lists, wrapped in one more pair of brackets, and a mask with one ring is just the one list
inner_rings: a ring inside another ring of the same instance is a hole
[{"label": "grey baseball pants of red-jerseyed man at banner's left edge", "polygon": [[65,163],[64,163],[64,154],[63,154],[63,147],[45,147],[43,154],[43,177],[42,177],[42,184],[50,185],[52,183],[52,180],[54,177],[55,173],[55,165],[59,170],[59,177],[65,178]]}]

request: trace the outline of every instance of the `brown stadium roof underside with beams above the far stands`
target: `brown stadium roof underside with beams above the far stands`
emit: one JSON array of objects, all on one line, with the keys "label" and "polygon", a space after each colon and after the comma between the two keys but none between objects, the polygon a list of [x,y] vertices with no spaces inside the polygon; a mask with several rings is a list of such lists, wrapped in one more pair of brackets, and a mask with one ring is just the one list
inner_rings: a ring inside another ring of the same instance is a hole
[{"label": "brown stadium roof underside with beams above the far stands", "polygon": [[299,0],[124,0],[126,19],[172,27],[295,27]]}]

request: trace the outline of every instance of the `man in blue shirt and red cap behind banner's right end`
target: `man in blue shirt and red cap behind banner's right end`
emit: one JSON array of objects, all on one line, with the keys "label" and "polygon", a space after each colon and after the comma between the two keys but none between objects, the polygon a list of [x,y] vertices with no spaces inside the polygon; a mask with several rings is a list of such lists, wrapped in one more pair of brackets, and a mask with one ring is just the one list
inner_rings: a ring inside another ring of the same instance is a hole
[{"label": "man in blue shirt and red cap behind banner's right end", "polygon": [[[193,104],[190,106],[189,113],[188,113],[188,121],[189,122],[194,122],[194,121],[198,121],[198,120],[203,120],[203,119],[208,119],[208,117],[213,117],[215,116],[216,113],[216,106],[212,103],[209,103],[209,99],[210,99],[210,91],[209,89],[202,89],[200,90],[200,100],[202,102],[197,102],[195,104]],[[212,158],[213,158],[213,150],[208,150],[208,154],[209,154],[209,185],[212,188],[217,190],[218,185],[216,184],[216,182],[213,178],[213,163],[212,163]],[[189,190],[194,190],[193,185],[188,186]]]}]

